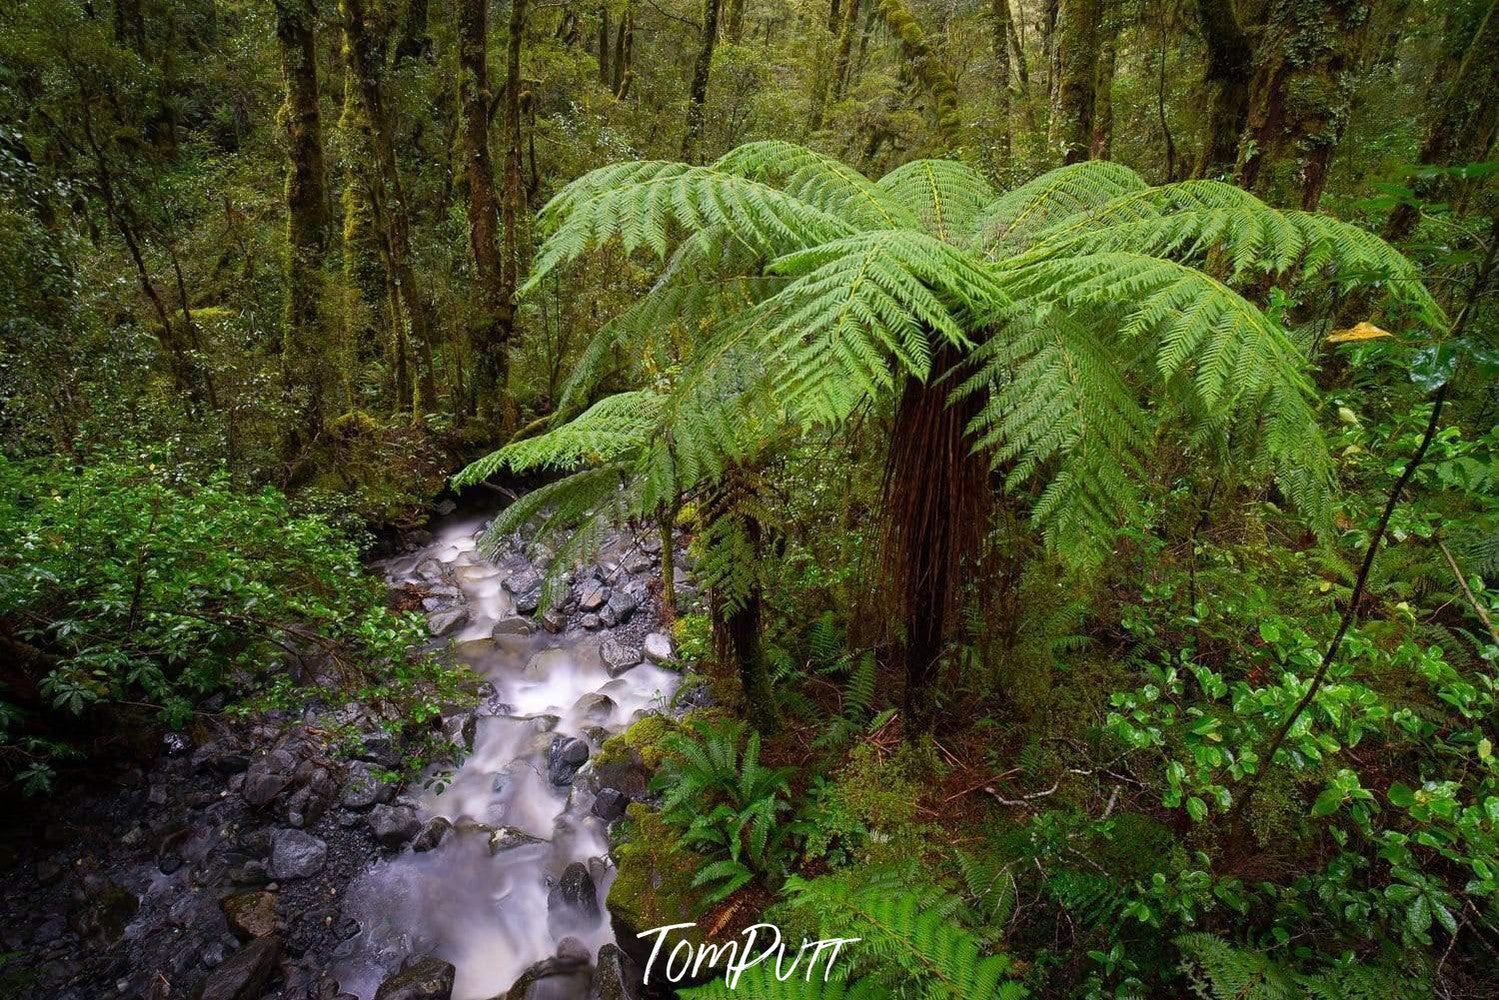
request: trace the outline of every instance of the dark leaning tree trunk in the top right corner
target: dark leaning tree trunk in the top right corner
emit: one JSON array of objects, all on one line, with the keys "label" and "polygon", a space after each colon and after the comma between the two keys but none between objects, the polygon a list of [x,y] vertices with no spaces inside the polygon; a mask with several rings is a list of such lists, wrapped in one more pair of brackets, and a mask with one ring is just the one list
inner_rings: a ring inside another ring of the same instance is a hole
[{"label": "dark leaning tree trunk in the top right corner", "polygon": [[[1499,3],[1490,1],[1474,28],[1457,72],[1447,84],[1436,105],[1417,163],[1421,166],[1456,166],[1484,159],[1487,141],[1499,120]],[[1438,201],[1448,190],[1445,177],[1415,174],[1406,186],[1423,201]],[[1402,202],[1385,220],[1387,240],[1405,240],[1415,231],[1421,213],[1417,205]]]}]

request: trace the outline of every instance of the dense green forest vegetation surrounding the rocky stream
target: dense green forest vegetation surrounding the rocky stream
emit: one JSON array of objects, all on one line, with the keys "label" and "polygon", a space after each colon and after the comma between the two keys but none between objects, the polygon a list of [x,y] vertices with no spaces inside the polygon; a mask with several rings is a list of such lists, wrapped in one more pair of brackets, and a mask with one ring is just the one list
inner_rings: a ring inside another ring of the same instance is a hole
[{"label": "dense green forest vegetation surrounding the rocky stream", "polygon": [[862,939],[741,996],[1492,993],[1493,0],[13,0],[0,120],[7,792],[430,730],[457,471],[661,534],[621,870]]}]

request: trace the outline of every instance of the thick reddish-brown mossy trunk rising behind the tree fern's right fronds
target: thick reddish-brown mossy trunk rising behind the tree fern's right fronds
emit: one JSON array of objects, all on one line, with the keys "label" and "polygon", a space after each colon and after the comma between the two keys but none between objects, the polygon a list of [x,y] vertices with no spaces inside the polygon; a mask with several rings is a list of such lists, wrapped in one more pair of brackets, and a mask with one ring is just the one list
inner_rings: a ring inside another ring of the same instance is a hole
[{"label": "thick reddish-brown mossy trunk rising behind the tree fern's right fronds", "polygon": [[1300,189],[1301,208],[1316,210],[1348,123],[1369,10],[1370,0],[1273,0],[1255,46],[1237,166],[1241,187],[1267,193],[1285,184]]}]

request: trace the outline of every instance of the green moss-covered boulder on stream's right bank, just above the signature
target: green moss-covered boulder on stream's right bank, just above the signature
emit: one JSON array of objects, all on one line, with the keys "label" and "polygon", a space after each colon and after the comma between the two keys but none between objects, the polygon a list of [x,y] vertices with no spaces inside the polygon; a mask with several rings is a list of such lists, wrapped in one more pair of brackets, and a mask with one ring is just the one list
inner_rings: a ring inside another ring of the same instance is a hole
[{"label": "green moss-covered boulder on stream's right bank, just above the signature", "polygon": [[[676,831],[660,813],[634,802],[625,817],[625,840],[615,847],[619,873],[609,888],[609,912],[637,931],[697,918],[703,894],[693,879],[708,862],[678,846]],[[693,928],[688,937],[700,942],[702,931]]]}]

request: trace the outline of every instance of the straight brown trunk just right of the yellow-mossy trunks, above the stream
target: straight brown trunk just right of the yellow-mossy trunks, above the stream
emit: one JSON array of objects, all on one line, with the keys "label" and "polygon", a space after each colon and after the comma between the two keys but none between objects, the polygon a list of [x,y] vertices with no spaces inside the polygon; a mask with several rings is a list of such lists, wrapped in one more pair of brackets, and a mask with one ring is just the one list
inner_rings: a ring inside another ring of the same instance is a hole
[{"label": "straight brown trunk just right of the yellow-mossy trunks, above the stream", "polygon": [[[607,7],[606,7],[607,9]],[[499,256],[499,196],[489,154],[489,0],[459,0],[459,120],[468,178],[469,249],[481,316],[471,333],[475,355],[474,394],[480,414],[507,412],[510,334],[514,307],[504,286]],[[600,40],[607,51],[607,40]],[[603,63],[607,66],[607,58]]]}]

